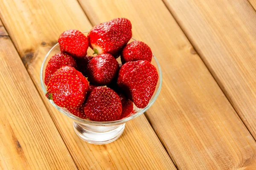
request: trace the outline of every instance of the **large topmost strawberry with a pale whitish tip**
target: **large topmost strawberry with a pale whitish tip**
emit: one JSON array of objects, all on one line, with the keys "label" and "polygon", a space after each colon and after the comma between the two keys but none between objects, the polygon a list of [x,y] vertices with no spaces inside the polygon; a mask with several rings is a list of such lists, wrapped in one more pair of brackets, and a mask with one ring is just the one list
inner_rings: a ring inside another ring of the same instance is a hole
[{"label": "large topmost strawberry with a pale whitish tip", "polygon": [[115,57],[131,37],[131,21],[126,18],[100,23],[88,33],[90,48],[95,53],[109,53]]}]

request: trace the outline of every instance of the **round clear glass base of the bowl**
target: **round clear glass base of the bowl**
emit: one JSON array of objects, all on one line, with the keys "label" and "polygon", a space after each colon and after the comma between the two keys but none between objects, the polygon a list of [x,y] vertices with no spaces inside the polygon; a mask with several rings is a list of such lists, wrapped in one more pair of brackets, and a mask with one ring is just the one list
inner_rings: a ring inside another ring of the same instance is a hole
[{"label": "round clear glass base of the bowl", "polygon": [[84,141],[91,144],[107,144],[115,141],[122,135],[125,123],[111,127],[97,127],[73,122],[76,134]]}]

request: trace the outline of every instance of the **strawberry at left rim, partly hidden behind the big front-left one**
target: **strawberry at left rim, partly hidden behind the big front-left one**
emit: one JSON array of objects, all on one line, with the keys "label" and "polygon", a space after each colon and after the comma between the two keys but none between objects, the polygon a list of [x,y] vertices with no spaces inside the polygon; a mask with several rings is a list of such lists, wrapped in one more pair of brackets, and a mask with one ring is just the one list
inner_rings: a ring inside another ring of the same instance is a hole
[{"label": "strawberry at left rim, partly hidden behind the big front-left one", "polygon": [[49,62],[47,63],[47,66],[45,68],[45,74],[44,74],[44,83],[45,85],[48,85],[48,82],[52,75],[61,67],[63,66],[70,66],[76,68],[76,62],[73,57],[66,53],[57,53],[53,55]]}]

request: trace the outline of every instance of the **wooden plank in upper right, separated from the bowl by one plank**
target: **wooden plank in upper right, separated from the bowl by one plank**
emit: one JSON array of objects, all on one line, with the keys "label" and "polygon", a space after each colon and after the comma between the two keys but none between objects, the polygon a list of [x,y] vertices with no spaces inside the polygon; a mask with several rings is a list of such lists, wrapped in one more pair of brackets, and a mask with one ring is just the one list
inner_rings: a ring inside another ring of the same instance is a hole
[{"label": "wooden plank in upper right, separated from the bowl by one plank", "polygon": [[256,11],[246,0],[165,0],[256,139]]}]

